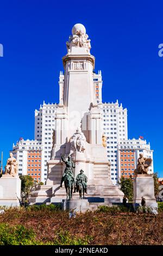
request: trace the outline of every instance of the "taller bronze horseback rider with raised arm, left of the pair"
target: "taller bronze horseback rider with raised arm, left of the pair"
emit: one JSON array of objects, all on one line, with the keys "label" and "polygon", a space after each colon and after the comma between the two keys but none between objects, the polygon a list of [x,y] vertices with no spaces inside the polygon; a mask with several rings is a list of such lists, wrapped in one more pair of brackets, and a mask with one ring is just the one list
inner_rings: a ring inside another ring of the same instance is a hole
[{"label": "taller bronze horseback rider with raised arm, left of the pair", "polygon": [[61,155],[61,160],[66,164],[66,168],[61,178],[60,187],[62,187],[62,182],[64,182],[67,199],[72,199],[72,190],[75,187],[75,179],[73,175],[73,168],[75,168],[75,166],[74,166],[74,163],[71,161],[71,156],[68,156],[68,161],[67,161],[65,159],[65,156]]}]

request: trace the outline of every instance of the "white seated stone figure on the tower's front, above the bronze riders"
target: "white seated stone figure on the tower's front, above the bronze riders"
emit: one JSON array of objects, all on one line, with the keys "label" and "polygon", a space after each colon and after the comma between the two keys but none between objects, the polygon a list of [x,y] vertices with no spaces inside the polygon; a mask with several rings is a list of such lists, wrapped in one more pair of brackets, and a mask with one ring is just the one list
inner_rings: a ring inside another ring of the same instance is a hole
[{"label": "white seated stone figure on the tower's front, above the bronze riders", "polygon": [[73,134],[72,142],[71,142],[71,149],[73,151],[78,150],[79,152],[83,152],[85,150],[85,142],[86,138],[84,133],[77,128],[76,133]]}]

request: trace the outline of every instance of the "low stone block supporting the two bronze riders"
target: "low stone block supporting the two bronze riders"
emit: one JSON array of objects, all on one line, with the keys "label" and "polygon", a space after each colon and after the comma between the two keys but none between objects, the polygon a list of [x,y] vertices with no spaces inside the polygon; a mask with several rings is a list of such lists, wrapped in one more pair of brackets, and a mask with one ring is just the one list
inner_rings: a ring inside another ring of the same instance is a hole
[{"label": "low stone block supporting the two bronze riders", "polygon": [[77,212],[85,212],[89,209],[89,202],[87,199],[65,199],[62,200],[63,210],[74,210]]}]

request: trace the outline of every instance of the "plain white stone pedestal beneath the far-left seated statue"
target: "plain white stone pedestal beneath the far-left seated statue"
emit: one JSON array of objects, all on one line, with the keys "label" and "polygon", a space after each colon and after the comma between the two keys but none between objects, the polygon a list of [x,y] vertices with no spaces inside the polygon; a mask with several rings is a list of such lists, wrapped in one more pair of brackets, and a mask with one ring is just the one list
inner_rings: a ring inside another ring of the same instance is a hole
[{"label": "plain white stone pedestal beneath the far-left seated statue", "polygon": [[21,180],[18,176],[12,177],[3,174],[0,179],[0,205],[20,206],[18,198],[21,198]]}]

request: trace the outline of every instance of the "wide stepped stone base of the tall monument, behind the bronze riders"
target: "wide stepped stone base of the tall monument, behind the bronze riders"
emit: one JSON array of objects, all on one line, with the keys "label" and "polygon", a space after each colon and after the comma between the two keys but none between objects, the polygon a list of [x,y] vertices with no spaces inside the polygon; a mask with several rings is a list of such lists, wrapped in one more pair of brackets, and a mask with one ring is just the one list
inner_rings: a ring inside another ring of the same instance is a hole
[{"label": "wide stepped stone base of the tall monument, behind the bronze riders", "polygon": [[[123,192],[117,186],[97,186],[87,185],[87,193],[84,199],[89,202],[90,210],[97,210],[100,205],[109,205],[122,203]],[[79,193],[72,194],[72,200],[79,200]],[[80,199],[80,200],[84,200]],[[66,190],[64,184],[60,185],[41,185],[33,191],[32,197],[29,198],[29,204],[62,204],[66,200]]]}]

